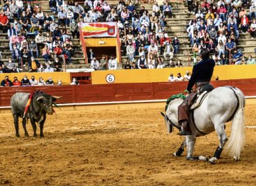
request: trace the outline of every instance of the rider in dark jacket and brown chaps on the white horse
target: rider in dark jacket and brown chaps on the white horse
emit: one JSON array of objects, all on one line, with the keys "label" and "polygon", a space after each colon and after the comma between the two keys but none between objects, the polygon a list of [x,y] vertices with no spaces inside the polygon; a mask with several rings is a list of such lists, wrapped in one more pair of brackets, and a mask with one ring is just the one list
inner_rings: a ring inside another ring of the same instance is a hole
[{"label": "rider in dark jacket and brown chaps on the white horse", "polygon": [[[179,125],[181,125],[181,132],[178,134],[181,136],[192,134],[189,123],[189,108],[194,102],[194,99],[196,99],[199,88],[210,83],[215,66],[214,60],[210,59],[210,52],[207,49],[201,49],[200,58],[201,61],[194,65],[190,81],[188,81],[187,91],[190,94],[188,94],[183,103],[178,107],[178,121]],[[194,85],[196,88],[192,92]]]}]

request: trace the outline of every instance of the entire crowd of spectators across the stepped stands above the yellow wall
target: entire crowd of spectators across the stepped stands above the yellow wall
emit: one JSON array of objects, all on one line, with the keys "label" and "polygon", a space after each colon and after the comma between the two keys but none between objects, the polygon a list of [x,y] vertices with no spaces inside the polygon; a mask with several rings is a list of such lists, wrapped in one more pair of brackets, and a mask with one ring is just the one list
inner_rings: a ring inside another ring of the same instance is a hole
[{"label": "entire crowd of spectators across the stepped stands above the yellow wall", "polygon": [[[187,29],[194,52],[208,48],[216,54],[218,64],[241,63],[243,55],[236,47],[239,29],[250,32],[255,39],[256,0],[187,1],[189,12],[194,14]],[[28,65],[29,72],[62,71],[63,64],[72,63],[75,50],[71,38],[79,38],[80,23],[104,21],[117,22],[121,55],[128,58],[126,69],[181,66],[177,65],[181,61],[172,61],[179,52],[179,39],[165,32],[166,19],[172,17],[170,3],[154,0],[152,14],[143,6],[136,8],[136,3],[120,0],[118,5],[109,6],[104,0],[85,0],[82,5],[74,0],[49,0],[48,14],[37,3],[4,0],[0,29],[8,34],[12,58],[6,66],[1,63],[0,72],[20,72],[21,64]],[[108,61],[105,56],[99,61],[95,54],[87,56],[94,70],[117,69],[114,56]],[[38,58],[44,62],[37,61]],[[248,56],[245,63],[255,62]]]}]

